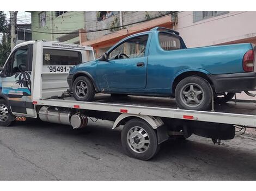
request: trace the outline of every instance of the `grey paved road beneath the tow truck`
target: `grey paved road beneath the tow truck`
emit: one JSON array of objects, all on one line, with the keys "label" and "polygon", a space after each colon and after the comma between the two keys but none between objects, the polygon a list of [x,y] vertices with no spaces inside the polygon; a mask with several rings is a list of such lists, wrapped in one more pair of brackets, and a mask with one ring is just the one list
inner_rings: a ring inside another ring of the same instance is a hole
[{"label": "grey paved road beneath the tow truck", "polygon": [[256,180],[256,137],[168,141],[144,162],[124,154],[111,125],[72,130],[30,119],[1,127],[0,180]]}]

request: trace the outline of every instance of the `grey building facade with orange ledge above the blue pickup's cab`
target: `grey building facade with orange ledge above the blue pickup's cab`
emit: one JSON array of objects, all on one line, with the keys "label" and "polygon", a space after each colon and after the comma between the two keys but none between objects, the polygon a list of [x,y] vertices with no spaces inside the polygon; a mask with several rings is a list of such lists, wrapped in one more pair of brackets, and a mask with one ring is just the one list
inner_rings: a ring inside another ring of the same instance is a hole
[{"label": "grey building facade with orange ledge above the blue pickup's cab", "polygon": [[[111,16],[104,18],[104,14],[108,12],[112,12]],[[86,11],[86,27],[83,30],[84,33],[80,33],[80,44],[93,46],[95,56],[98,58],[109,47],[126,36],[147,31],[157,26],[173,28],[176,15],[171,14],[172,12]],[[119,28],[118,26],[124,27]]]}]

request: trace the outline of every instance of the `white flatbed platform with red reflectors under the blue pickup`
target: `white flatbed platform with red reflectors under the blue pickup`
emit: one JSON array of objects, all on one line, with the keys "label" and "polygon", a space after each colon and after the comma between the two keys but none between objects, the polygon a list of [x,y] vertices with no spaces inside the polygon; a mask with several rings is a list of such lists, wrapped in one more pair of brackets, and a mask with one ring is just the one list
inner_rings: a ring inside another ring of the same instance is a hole
[{"label": "white flatbed platform with red reflectors under the blue pickup", "polygon": [[63,99],[40,99],[36,105],[69,107],[115,113],[142,114],[155,117],[167,117],[204,122],[225,123],[243,126],[256,126],[256,103],[229,101],[226,104],[215,104],[215,112],[178,109],[175,99],[142,97],[111,97],[109,94],[97,94],[94,101],[76,101],[74,97]]}]

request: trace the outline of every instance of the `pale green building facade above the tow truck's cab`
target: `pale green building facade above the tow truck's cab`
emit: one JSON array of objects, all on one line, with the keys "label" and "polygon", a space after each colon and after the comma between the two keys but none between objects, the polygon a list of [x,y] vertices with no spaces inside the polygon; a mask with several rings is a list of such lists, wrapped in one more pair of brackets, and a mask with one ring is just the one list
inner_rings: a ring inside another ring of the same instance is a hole
[{"label": "pale green building facade above the tow truck's cab", "polygon": [[32,40],[44,39],[79,44],[78,31],[85,27],[86,11],[29,12],[31,12]]}]

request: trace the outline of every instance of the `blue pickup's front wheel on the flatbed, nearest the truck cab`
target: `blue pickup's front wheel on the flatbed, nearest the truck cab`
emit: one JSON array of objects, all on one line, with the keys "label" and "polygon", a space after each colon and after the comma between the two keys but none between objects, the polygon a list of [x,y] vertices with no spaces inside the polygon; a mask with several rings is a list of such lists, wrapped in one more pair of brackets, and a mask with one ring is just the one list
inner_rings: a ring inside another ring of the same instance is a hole
[{"label": "blue pickup's front wheel on the flatbed, nearest the truck cab", "polygon": [[78,77],[73,83],[74,97],[77,101],[92,101],[95,95],[92,81],[87,77]]}]

